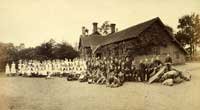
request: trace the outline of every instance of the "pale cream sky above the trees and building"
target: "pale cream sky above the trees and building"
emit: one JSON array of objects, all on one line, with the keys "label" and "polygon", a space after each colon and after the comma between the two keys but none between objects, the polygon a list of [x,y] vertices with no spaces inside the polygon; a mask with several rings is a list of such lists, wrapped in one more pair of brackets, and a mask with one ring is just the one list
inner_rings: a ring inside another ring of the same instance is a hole
[{"label": "pale cream sky above the trees and building", "polygon": [[200,13],[200,0],[0,0],[0,42],[29,47],[53,38],[74,45],[92,22],[108,20],[121,30],[160,17],[175,29],[192,12]]}]

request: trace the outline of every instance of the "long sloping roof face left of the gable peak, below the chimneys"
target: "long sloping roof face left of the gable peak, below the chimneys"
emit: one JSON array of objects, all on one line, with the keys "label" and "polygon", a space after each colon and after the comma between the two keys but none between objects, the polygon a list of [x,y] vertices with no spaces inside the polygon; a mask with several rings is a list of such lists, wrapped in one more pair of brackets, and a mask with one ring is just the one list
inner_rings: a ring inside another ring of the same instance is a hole
[{"label": "long sloping roof face left of the gable peak, below the chimneys", "polygon": [[110,43],[126,40],[128,38],[136,37],[138,34],[144,31],[147,27],[149,27],[154,21],[156,21],[158,18],[154,18],[152,20],[149,20],[147,22],[129,27],[127,29],[124,29],[122,31],[109,34],[107,36],[101,36],[99,34],[91,34],[88,36],[81,36],[80,42],[81,46],[83,47],[99,47],[103,45],[107,45]]}]

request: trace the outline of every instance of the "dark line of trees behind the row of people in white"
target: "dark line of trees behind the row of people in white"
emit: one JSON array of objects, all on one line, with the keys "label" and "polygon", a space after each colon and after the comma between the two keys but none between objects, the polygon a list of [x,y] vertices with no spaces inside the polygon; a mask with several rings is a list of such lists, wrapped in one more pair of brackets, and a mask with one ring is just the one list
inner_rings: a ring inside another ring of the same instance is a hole
[{"label": "dark line of trees behind the row of people in white", "polygon": [[36,47],[25,48],[24,44],[14,46],[12,43],[0,43],[0,71],[4,71],[6,63],[19,60],[53,60],[73,59],[79,52],[67,42],[57,43],[50,39]]}]

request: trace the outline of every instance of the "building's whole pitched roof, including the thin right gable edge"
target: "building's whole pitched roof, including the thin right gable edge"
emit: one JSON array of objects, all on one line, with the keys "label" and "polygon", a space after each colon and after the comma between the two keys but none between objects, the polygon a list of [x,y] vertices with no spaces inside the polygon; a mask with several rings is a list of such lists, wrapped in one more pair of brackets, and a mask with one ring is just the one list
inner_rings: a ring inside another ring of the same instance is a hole
[{"label": "building's whole pitched roof, including the thin right gable edge", "polygon": [[[142,32],[144,32],[148,27],[150,27],[153,23],[157,21],[159,21],[159,23],[164,26],[160,18],[156,17],[146,22],[121,30],[119,32],[109,34],[107,36],[92,34],[87,37],[82,37],[80,41],[82,43],[82,46],[91,47],[92,51],[95,52],[101,46],[138,37]],[[180,43],[175,39],[175,37],[169,31],[166,30],[166,32],[171,37],[172,41],[176,43],[178,47],[184,51],[184,53],[187,54],[185,49],[180,45]]]}]

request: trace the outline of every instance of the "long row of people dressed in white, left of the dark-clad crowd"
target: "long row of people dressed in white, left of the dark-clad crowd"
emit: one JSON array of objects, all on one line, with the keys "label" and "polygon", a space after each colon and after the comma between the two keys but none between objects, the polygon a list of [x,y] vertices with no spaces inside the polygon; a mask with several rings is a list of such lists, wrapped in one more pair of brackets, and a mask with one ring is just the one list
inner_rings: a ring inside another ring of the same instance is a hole
[{"label": "long row of people dressed in white, left of the dark-clad crowd", "polygon": [[46,60],[37,61],[29,60],[22,61],[16,65],[14,62],[6,65],[5,73],[7,76],[63,76],[66,73],[77,73],[80,74],[85,72],[86,63],[82,59],[65,59],[65,60]]}]

